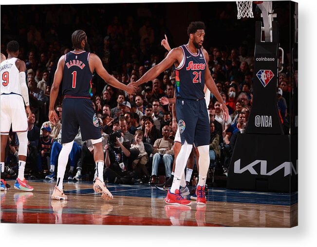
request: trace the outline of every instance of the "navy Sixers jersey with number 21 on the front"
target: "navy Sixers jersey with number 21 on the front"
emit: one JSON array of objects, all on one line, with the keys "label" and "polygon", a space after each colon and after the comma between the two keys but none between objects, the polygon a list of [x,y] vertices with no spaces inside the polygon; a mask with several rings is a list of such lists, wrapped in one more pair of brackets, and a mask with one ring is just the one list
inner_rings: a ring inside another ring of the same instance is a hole
[{"label": "navy Sixers jersey with number 21 on the front", "polygon": [[205,97],[205,69],[207,66],[203,51],[198,49],[198,54],[194,55],[186,45],[180,47],[183,50],[184,58],[175,68],[176,97],[202,99]]}]

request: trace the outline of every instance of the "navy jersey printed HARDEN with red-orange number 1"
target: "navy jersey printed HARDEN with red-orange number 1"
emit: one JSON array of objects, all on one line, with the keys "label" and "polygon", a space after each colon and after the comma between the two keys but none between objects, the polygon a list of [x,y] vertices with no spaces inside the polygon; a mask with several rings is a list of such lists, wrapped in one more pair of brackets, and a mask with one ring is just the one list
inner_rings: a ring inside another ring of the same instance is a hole
[{"label": "navy jersey printed HARDEN with red-orange number 1", "polygon": [[89,68],[90,52],[69,52],[65,55],[62,92],[65,96],[89,97],[93,74]]}]

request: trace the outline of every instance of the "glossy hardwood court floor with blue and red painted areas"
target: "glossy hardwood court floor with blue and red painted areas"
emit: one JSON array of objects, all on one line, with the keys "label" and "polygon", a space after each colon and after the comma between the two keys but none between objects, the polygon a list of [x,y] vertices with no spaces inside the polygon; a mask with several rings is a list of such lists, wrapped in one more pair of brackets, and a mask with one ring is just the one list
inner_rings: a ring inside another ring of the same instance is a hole
[{"label": "glossy hardwood court floor with blue and red painted areas", "polygon": [[[92,182],[64,183],[67,201],[51,200],[56,181],[30,180],[33,192],[1,191],[1,223],[279,227],[297,225],[297,193],[209,188],[207,205],[172,206],[166,192],[149,185],[113,185],[104,201]],[[292,205],[292,206],[290,206]]]}]

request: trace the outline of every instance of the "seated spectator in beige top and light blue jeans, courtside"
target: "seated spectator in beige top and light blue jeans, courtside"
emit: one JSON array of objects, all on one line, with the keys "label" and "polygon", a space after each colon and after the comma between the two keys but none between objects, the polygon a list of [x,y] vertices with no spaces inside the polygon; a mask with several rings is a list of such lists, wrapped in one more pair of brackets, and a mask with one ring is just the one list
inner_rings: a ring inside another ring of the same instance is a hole
[{"label": "seated spectator in beige top and light blue jeans, courtside", "polygon": [[171,176],[171,169],[173,164],[173,144],[174,141],[169,138],[169,126],[164,126],[162,129],[163,138],[157,139],[153,145],[153,161],[152,161],[152,175],[150,184],[155,184],[158,165],[161,161],[165,166],[166,180]]}]

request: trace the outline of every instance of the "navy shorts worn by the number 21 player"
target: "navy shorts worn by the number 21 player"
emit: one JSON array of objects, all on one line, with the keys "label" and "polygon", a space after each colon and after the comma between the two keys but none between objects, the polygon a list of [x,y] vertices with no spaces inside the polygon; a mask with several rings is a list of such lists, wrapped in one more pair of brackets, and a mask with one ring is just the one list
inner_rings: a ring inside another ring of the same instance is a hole
[{"label": "navy shorts worn by the number 21 player", "polygon": [[205,99],[176,99],[176,117],[182,145],[209,145],[210,124]]}]

